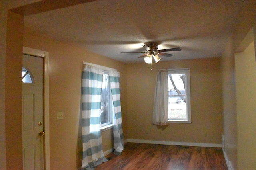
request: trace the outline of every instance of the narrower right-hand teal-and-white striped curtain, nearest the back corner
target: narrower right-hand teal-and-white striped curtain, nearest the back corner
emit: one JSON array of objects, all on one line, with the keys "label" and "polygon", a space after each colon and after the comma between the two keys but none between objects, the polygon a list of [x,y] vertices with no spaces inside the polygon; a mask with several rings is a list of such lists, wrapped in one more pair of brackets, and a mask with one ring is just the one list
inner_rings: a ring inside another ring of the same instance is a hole
[{"label": "narrower right-hand teal-and-white striped curtain, nearest the back corner", "polygon": [[109,71],[110,89],[114,106],[114,154],[121,155],[124,150],[124,137],[122,128],[121,100],[120,100],[120,75],[117,71]]}]

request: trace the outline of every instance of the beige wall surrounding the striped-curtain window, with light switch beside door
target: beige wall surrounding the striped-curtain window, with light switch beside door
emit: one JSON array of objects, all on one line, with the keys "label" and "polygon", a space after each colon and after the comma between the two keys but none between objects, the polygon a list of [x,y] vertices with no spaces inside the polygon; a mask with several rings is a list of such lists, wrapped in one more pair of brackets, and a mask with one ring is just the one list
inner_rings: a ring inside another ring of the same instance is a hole
[{"label": "beige wall surrounding the striped-curtain window, with light switch beside door", "polygon": [[[115,68],[120,72],[122,115],[126,117],[126,64],[96,55],[84,48],[24,31],[24,46],[49,52],[50,167],[76,169],[82,164],[80,87],[82,61]],[[56,120],[63,111],[64,119]],[[124,129],[126,125],[124,123]],[[102,133],[103,151],[113,147],[112,130]],[[125,134],[125,130],[124,130]]]}]

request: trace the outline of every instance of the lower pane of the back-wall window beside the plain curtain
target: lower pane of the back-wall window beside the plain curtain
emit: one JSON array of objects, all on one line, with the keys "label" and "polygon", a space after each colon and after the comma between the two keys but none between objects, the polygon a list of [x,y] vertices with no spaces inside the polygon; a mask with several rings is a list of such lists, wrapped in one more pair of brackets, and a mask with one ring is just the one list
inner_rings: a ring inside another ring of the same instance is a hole
[{"label": "lower pane of the back-wall window beside the plain curtain", "polygon": [[186,119],[185,97],[169,97],[168,119]]}]

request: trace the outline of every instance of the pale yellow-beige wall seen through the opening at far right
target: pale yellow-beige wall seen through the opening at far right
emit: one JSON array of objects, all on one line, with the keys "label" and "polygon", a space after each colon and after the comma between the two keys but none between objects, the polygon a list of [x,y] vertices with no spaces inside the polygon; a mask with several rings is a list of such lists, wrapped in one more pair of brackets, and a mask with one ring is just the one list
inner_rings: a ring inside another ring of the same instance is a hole
[{"label": "pale yellow-beige wall seen through the opening at far right", "polygon": [[254,42],[235,55],[238,170],[256,169],[256,65]]}]

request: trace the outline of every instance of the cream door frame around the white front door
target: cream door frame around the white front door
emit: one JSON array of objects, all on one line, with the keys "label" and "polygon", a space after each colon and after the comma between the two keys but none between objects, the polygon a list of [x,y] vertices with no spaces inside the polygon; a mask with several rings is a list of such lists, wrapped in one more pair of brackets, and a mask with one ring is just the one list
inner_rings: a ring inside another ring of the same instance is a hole
[{"label": "cream door frame around the white front door", "polygon": [[50,125],[49,125],[49,53],[23,47],[23,54],[43,58],[43,122],[44,122],[44,169],[50,170]]}]

